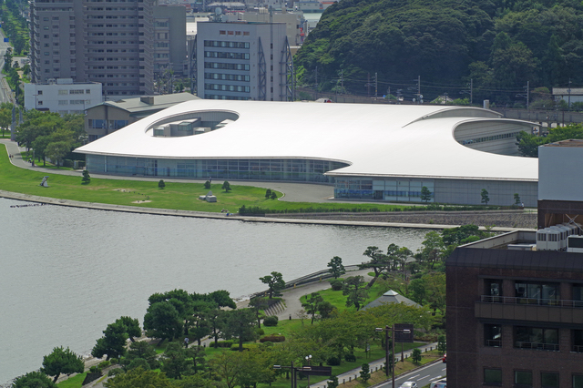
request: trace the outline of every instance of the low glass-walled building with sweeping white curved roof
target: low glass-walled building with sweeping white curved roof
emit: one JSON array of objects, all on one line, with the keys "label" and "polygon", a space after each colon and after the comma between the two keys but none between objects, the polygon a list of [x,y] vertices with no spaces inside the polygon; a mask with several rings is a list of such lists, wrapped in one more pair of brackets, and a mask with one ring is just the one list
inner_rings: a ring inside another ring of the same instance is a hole
[{"label": "low glass-walled building with sweeping white curved roof", "polygon": [[[155,136],[197,119],[199,136]],[[537,159],[494,153],[516,152],[533,125],[475,107],[197,100],[77,152],[92,172],[335,183],[337,198],[380,200],[421,201],[427,187],[441,203],[479,204],[487,189],[491,204],[519,193],[535,206]]]}]

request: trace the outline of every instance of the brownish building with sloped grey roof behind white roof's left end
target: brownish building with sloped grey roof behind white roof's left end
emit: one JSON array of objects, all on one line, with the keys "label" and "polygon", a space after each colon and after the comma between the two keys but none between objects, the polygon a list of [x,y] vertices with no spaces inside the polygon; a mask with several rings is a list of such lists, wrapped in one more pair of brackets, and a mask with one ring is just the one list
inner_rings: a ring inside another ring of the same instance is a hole
[{"label": "brownish building with sloped grey roof behind white roof's left end", "polygon": [[199,97],[192,96],[190,93],[177,93],[105,101],[95,107],[90,107],[85,117],[85,129],[89,141],[102,138],[162,109],[193,99],[199,99]]}]

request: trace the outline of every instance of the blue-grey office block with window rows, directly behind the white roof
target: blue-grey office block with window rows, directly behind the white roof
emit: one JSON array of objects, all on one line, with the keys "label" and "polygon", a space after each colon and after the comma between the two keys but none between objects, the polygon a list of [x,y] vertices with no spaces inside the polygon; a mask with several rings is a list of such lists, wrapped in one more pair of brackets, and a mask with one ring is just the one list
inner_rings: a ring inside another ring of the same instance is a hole
[{"label": "blue-grey office block with window rows, directly behind the white roof", "polygon": [[198,24],[193,73],[205,99],[293,99],[293,62],[284,23]]}]

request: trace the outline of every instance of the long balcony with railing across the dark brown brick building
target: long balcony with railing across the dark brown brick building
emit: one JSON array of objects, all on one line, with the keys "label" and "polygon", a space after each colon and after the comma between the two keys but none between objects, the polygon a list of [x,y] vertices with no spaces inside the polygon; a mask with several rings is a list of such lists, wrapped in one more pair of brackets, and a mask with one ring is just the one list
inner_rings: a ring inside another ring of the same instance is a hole
[{"label": "long balcony with railing across the dark brown brick building", "polygon": [[474,315],[498,321],[583,324],[583,301],[482,295],[474,303]]}]

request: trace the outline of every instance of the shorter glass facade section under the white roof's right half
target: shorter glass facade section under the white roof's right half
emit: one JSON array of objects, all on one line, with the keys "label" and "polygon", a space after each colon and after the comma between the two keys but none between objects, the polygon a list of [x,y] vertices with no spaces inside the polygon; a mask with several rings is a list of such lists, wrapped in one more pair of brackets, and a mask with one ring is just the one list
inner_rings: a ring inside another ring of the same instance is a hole
[{"label": "shorter glass facade section under the white roof's right half", "polygon": [[336,178],[334,198],[422,202],[421,189],[424,187],[431,193],[428,202],[433,202],[434,180]]}]

